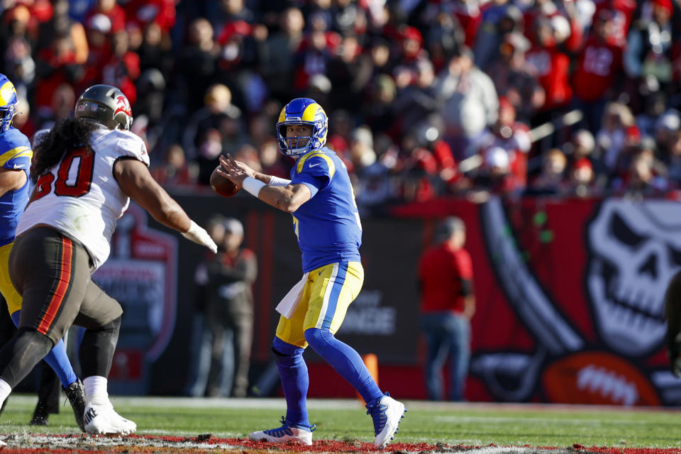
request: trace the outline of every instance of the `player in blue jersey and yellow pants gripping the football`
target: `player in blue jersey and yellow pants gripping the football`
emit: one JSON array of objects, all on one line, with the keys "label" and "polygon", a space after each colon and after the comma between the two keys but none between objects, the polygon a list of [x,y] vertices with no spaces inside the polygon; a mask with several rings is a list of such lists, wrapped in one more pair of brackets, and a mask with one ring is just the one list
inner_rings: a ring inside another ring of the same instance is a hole
[{"label": "player in blue jersey and yellow pants gripping the football", "polygon": [[328,118],[314,99],[289,102],[277,122],[279,150],[296,160],[291,179],[255,172],[243,162],[221,156],[217,172],[258,199],[293,215],[302,253],[303,279],[279,303],[272,351],[286,397],[282,426],[250,434],[254,440],[297,441],[310,445],[306,407],[309,386],[303,359],[310,345],[357,389],[374,422],[374,445],[384,448],[404,417],[404,404],[383,393],[360,355],[334,337],[364,281],[360,258],[362,226],[348,170],[324,147]]}]

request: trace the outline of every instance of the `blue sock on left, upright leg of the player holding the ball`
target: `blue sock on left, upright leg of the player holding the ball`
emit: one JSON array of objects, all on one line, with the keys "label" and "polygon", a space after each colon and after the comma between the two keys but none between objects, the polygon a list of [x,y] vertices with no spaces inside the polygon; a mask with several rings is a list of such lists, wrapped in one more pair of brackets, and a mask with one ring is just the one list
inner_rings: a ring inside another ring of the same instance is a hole
[{"label": "blue sock on left, upright leg of the player holding the ball", "polygon": [[299,348],[275,337],[272,350],[277,358],[279,376],[286,398],[286,421],[299,426],[310,426],[307,415],[307,389],[310,379],[303,359],[304,348]]}]

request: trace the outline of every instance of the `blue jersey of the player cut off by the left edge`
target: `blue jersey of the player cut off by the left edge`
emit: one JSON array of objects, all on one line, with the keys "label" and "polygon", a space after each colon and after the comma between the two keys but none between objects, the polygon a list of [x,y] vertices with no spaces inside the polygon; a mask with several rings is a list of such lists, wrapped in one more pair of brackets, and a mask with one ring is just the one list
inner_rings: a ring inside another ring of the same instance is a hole
[{"label": "blue jersey of the player cut off by the left edge", "polygon": [[[33,150],[26,135],[16,128],[9,128],[0,133],[0,167],[4,169],[31,171],[31,157]],[[14,240],[14,231],[19,217],[28,204],[30,184],[26,184],[16,191],[8,191],[0,196],[0,246]]]}]

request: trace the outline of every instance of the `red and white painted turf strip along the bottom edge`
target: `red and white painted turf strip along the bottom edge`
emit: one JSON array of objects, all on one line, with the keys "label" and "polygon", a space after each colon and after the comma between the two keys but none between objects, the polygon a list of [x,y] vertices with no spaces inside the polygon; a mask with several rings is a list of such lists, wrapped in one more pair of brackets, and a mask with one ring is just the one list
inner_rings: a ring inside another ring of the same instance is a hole
[{"label": "red and white painted turf strip along the bottom edge", "polygon": [[[246,438],[213,438],[201,434],[194,438],[177,436],[96,437],[88,435],[45,435],[21,433],[1,436],[7,443],[2,454],[284,454],[284,453],[375,453],[371,443],[360,441],[316,440],[311,446],[296,443],[276,444],[250,441]],[[0,448],[1,449],[1,448]],[[650,448],[532,448],[529,446],[463,446],[429,445],[427,443],[394,443],[382,452],[392,454],[681,454],[679,449]]]}]

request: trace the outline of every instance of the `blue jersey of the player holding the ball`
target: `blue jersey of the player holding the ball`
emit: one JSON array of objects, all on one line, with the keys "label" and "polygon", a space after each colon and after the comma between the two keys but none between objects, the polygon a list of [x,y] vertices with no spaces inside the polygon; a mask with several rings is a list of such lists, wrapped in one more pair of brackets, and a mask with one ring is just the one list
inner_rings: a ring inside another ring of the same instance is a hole
[{"label": "blue jersey of the player holding the ball", "polygon": [[291,183],[305,184],[312,198],[293,214],[303,272],[335,262],[360,262],[362,226],[348,169],[328,148],[299,157]]}]

